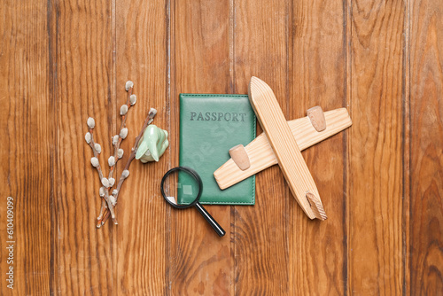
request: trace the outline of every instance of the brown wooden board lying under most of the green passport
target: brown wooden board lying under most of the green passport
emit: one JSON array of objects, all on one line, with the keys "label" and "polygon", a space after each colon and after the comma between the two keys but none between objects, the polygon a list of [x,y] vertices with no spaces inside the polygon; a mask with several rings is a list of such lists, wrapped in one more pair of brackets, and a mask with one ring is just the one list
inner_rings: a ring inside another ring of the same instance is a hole
[{"label": "brown wooden board lying under most of the green passport", "polygon": [[[178,165],[180,93],[231,93],[229,1],[177,1],[171,7],[171,167]],[[168,292],[234,294],[231,206],[206,206],[226,230],[218,238],[194,209],[170,210]]]}]

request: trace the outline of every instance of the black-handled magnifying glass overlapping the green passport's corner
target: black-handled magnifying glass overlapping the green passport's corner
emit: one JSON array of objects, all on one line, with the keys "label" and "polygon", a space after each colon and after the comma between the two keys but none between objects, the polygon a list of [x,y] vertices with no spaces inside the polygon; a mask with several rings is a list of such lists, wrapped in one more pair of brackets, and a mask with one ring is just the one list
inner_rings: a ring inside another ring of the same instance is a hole
[{"label": "black-handled magnifying glass overlapping the green passport's corner", "polygon": [[[180,172],[180,174],[179,174]],[[167,203],[174,208],[188,208],[195,206],[198,212],[205,218],[211,227],[222,237],[225,231],[221,228],[211,214],[199,203],[203,183],[200,176],[190,167],[174,167],[167,171],[161,179],[161,195]],[[178,204],[176,197],[186,200],[185,203]]]}]

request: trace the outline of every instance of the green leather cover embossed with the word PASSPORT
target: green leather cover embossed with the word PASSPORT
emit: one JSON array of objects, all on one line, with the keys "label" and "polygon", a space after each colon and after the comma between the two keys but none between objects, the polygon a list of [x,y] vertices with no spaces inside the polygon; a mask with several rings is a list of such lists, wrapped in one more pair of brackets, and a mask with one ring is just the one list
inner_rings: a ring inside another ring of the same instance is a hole
[{"label": "green leather cover embossed with the word PASSPORT", "polygon": [[[255,175],[221,191],[214,171],[229,160],[229,149],[255,138],[255,113],[247,95],[180,94],[180,166],[197,171],[203,182],[200,203],[254,205]],[[179,173],[178,182],[190,177]],[[177,196],[179,204],[192,200]]]}]

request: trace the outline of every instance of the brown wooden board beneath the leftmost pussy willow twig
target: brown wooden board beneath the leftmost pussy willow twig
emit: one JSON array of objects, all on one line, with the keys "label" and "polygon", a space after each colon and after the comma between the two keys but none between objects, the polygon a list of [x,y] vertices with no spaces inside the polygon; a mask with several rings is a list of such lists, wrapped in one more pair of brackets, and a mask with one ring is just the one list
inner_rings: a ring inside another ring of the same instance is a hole
[{"label": "brown wooden board beneath the leftmost pussy willow twig", "polygon": [[60,294],[113,292],[113,225],[96,230],[100,209],[97,171],[85,143],[89,116],[96,120],[95,140],[106,168],[113,134],[111,97],[112,23],[108,1],[60,1],[52,5],[51,43],[56,46],[55,104],[57,167],[55,170]]}]

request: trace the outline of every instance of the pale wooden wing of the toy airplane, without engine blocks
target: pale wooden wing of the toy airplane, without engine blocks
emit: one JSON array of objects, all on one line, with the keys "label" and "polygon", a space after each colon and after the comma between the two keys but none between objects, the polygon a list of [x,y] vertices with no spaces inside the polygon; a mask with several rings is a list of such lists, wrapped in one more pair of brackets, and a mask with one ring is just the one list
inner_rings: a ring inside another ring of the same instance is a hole
[{"label": "pale wooden wing of the toy airplane, without engine blocks", "polygon": [[[288,121],[291,133],[295,137],[300,150],[307,149],[350,127],[352,124],[349,113],[347,113],[345,108],[325,112],[324,116],[327,126],[321,133],[315,130],[307,117]],[[249,156],[251,167],[242,170],[232,159],[229,159],[214,172],[215,180],[221,189],[226,189],[251,175],[277,164],[276,155],[274,155],[272,147],[268,143],[268,138],[264,133],[261,133],[250,144],[247,144],[245,151]]]}]

